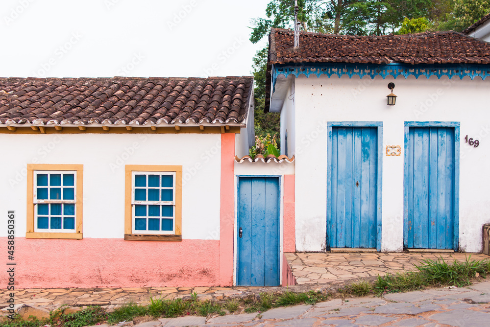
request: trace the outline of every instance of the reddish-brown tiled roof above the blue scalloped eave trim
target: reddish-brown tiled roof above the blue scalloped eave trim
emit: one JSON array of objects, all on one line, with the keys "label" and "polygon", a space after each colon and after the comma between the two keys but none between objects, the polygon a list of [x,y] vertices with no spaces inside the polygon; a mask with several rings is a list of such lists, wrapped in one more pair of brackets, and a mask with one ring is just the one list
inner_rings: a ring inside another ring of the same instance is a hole
[{"label": "reddish-brown tiled roof above the blue scalloped eave trim", "polygon": [[490,44],[454,31],[408,35],[349,36],[272,29],[269,64],[363,63],[490,64]]}]

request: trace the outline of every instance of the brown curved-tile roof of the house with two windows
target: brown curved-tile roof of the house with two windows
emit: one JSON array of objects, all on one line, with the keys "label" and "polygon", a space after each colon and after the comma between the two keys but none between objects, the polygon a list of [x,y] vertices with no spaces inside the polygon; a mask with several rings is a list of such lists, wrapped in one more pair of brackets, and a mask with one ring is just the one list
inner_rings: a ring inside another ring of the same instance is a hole
[{"label": "brown curved-tile roof of the house with two windows", "polygon": [[0,124],[245,123],[253,78],[0,78]]}]

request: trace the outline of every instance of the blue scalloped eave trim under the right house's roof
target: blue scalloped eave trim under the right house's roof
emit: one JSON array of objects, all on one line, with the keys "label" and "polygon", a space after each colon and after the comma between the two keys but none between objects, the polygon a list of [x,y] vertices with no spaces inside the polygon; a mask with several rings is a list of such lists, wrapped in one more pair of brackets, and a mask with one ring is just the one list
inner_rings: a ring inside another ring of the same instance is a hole
[{"label": "blue scalloped eave trim under the right house's roof", "polygon": [[342,77],[343,75],[352,76],[357,75],[360,78],[364,76],[369,76],[374,79],[375,76],[381,76],[386,78],[387,76],[393,76],[396,78],[398,76],[425,76],[427,79],[431,76],[437,76],[441,78],[442,76],[447,76],[449,79],[453,76],[458,76],[463,79],[465,76],[469,76],[474,79],[480,76],[482,80],[485,80],[490,76],[490,65],[472,65],[472,64],[461,64],[461,65],[446,65],[446,64],[435,64],[435,65],[407,65],[407,64],[388,64],[388,65],[376,65],[376,64],[343,64],[343,63],[328,63],[328,64],[295,64],[295,65],[272,65],[272,86],[273,92],[275,91],[275,83],[277,81],[277,76],[284,75],[288,77],[289,75],[294,75],[298,77],[299,75],[305,75],[310,77],[311,75],[316,75],[320,77],[321,75],[327,75],[331,77],[332,75],[337,75]]}]

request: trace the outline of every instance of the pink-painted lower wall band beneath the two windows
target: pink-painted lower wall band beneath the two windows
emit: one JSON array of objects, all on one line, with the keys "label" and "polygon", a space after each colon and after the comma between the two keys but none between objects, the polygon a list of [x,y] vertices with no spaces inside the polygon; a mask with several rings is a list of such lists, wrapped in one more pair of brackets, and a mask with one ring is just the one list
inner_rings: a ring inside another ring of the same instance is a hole
[{"label": "pink-painted lower wall band beneath the two windows", "polygon": [[[16,288],[216,286],[220,241],[16,237]],[[0,237],[0,244],[7,244]],[[0,274],[0,285],[7,284]],[[3,288],[0,286],[0,288]]]}]

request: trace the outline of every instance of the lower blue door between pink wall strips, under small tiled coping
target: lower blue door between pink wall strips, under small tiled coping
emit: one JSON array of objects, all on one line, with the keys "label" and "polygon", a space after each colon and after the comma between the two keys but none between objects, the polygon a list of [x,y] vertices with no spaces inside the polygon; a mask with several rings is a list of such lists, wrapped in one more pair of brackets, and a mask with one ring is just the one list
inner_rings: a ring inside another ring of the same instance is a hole
[{"label": "lower blue door between pink wall strips, under small tiled coping", "polygon": [[237,285],[279,285],[279,178],[238,177],[237,245]]}]

